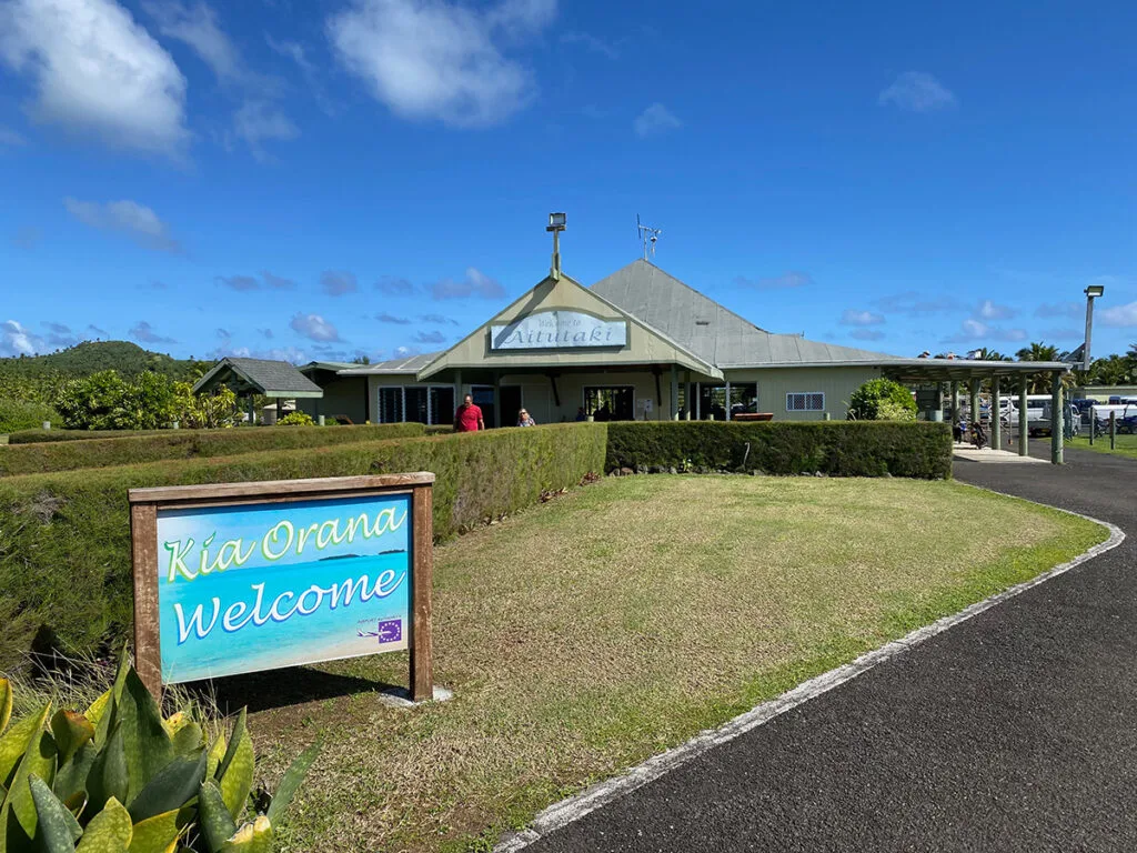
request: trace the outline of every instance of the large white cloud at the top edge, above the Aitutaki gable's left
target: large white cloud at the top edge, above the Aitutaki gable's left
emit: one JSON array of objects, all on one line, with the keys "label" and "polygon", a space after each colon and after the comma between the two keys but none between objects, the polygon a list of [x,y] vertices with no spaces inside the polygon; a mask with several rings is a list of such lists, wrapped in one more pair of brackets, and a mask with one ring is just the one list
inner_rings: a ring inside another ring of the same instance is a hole
[{"label": "large white cloud at the top edge, above the Aitutaki gable's left", "polygon": [[555,11],[555,0],[480,10],[447,0],[354,0],[329,18],[327,34],[340,63],[396,115],[483,127],[534,97],[532,73],[504,51]]}]

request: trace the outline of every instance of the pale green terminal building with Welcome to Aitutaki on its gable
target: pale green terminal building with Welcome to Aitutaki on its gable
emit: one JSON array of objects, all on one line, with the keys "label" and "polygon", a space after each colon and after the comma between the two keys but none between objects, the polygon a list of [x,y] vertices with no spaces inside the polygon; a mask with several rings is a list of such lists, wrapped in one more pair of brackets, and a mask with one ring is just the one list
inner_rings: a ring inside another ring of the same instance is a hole
[{"label": "pale green terminal building with Welcome to Aitutaki on its gable", "polygon": [[[449,349],[379,364],[313,362],[313,415],[447,424],[464,395],[487,425],[595,420],[843,420],[852,392],[911,364],[777,334],[647,259],[586,287],[559,268]],[[920,362],[927,364],[927,359]]]}]

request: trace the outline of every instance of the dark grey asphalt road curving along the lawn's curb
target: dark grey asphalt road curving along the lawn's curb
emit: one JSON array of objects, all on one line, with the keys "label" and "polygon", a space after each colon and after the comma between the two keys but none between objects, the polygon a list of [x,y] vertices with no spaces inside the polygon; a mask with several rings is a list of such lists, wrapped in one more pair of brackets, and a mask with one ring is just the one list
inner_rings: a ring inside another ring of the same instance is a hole
[{"label": "dark grey asphalt road curving along the lawn's curb", "polygon": [[1111,521],[1120,547],[529,853],[1137,850],[1137,462],[1067,458],[955,475]]}]

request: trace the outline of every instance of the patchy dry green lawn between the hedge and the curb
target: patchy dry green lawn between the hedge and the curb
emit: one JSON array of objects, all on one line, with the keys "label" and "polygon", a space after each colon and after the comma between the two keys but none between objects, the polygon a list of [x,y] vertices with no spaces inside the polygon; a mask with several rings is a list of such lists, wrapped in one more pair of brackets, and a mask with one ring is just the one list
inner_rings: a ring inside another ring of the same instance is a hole
[{"label": "patchy dry green lawn between the hedge and the curb", "polygon": [[269,781],[327,735],[287,850],[488,850],[558,798],[1105,537],[945,481],[579,489],[438,548],[435,681],[453,701],[381,705],[370,687],[405,684],[402,655],[244,681],[250,697],[332,688],[250,720]]}]

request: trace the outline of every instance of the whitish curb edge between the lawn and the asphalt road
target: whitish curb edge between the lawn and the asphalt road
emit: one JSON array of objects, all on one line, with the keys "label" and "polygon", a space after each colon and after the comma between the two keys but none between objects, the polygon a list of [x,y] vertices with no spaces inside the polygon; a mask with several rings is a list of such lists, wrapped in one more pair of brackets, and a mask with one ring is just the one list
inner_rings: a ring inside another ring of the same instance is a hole
[{"label": "whitish curb edge between the lawn and the asphalt road", "polygon": [[[970,486],[970,483],[963,485]],[[589,812],[594,812],[597,809],[632,793],[637,788],[658,779],[661,776],[682,767],[692,759],[709,752],[721,744],[725,744],[741,735],[745,735],[747,731],[750,731],[752,729],[769,722],[775,717],[779,717],[787,711],[808,702],[815,696],[820,696],[835,687],[839,687],[846,681],[853,680],[861,673],[868,672],[873,666],[883,663],[890,657],[903,654],[913,646],[916,646],[938,633],[943,633],[949,628],[954,628],[961,622],[965,622],[972,616],[979,615],[984,611],[990,610],[996,604],[1001,604],[1009,598],[1013,598],[1016,595],[1026,593],[1028,589],[1037,587],[1039,583],[1045,583],[1060,574],[1064,574],[1088,560],[1093,560],[1107,550],[1112,550],[1126,538],[1124,531],[1121,530],[1121,528],[1115,524],[1111,524],[1107,521],[1102,521],[1101,519],[1082,515],[1081,513],[1063,510],[1057,506],[1041,504],[1037,500],[1028,500],[1027,498],[1021,498],[1018,495],[1007,495],[1006,492],[995,491],[994,489],[982,489],[978,486],[972,488],[980,489],[982,491],[991,491],[996,495],[1003,495],[1004,497],[1013,497],[1016,500],[1026,500],[1028,504],[1045,506],[1047,510],[1057,510],[1059,512],[1067,513],[1068,515],[1077,515],[1080,519],[1093,521],[1095,524],[1101,524],[1106,528],[1110,531],[1110,537],[1104,543],[1095,545],[1086,553],[1079,554],[1067,563],[1056,565],[1028,581],[1009,587],[1002,593],[996,593],[989,598],[985,598],[984,601],[977,602],[969,607],[964,607],[958,613],[953,613],[952,615],[938,619],[931,624],[919,628],[897,640],[893,640],[891,643],[881,646],[878,649],[866,652],[855,661],[846,663],[820,676],[815,676],[808,681],[803,681],[797,687],[783,693],[778,698],[770,699],[769,702],[763,702],[762,704],[754,706],[749,711],[739,714],[733,720],[729,720],[723,723],[717,729],[706,729],[700,731],[687,743],[674,746],[666,752],[659,753],[658,755],[653,755],[641,764],[624,771],[621,776],[597,782],[579,794],[566,797],[559,803],[554,803],[543,811],[539,812],[530,822],[529,828],[523,829],[520,833],[506,835],[501,842],[493,847],[493,853],[513,853],[514,851],[528,847],[530,844],[539,840],[543,836],[547,836],[575,820],[580,820]]]}]

